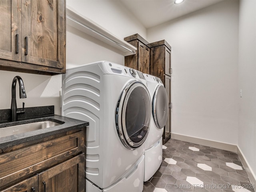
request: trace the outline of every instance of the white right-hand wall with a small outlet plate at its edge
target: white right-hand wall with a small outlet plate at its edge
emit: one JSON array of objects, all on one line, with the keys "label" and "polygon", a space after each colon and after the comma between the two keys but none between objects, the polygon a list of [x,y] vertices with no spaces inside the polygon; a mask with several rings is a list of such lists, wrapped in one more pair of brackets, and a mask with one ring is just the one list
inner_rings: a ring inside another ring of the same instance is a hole
[{"label": "white right-hand wall with a small outlet plate at its edge", "polygon": [[256,179],[256,1],[240,0],[238,147]]}]

